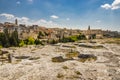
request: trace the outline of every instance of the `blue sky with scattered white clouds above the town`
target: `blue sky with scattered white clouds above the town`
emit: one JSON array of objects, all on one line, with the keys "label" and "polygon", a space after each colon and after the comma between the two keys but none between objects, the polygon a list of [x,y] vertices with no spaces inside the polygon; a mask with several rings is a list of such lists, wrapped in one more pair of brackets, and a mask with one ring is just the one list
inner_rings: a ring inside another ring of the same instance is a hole
[{"label": "blue sky with scattered white clouds above the town", "polygon": [[0,23],[120,31],[120,0],[0,0]]}]

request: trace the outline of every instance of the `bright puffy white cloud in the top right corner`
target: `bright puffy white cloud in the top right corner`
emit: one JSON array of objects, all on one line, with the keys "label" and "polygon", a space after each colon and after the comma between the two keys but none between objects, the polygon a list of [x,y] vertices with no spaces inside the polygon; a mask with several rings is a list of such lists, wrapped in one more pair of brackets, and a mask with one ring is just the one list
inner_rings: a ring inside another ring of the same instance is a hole
[{"label": "bright puffy white cloud in the top right corner", "polygon": [[111,9],[111,10],[116,10],[120,8],[120,0],[114,0],[112,4],[104,4],[101,5],[102,8],[104,9]]}]

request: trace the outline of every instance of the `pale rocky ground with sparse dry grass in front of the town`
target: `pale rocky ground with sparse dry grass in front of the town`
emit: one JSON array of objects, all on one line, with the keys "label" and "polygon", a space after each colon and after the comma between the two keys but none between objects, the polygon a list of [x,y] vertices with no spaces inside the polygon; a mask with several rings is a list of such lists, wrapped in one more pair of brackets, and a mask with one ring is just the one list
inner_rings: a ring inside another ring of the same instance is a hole
[{"label": "pale rocky ground with sparse dry grass in front of the town", "polygon": [[[79,45],[102,45],[85,47]],[[120,80],[120,45],[89,42],[59,43],[57,45],[4,48],[13,54],[13,62],[0,62],[0,80]],[[96,61],[52,62],[53,57],[65,57],[69,51],[93,54]],[[24,56],[24,58],[19,58]]]}]

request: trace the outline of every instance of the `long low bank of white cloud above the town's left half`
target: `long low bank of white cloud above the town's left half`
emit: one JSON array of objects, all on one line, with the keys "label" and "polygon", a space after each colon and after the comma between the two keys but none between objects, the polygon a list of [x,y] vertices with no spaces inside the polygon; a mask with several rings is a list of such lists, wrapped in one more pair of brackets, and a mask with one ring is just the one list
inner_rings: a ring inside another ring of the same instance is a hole
[{"label": "long low bank of white cloud above the town's left half", "polygon": [[11,22],[11,23],[14,23],[15,19],[18,20],[18,24],[25,24],[25,25],[39,25],[39,26],[44,26],[44,27],[60,27],[60,28],[63,28],[63,27],[66,27],[64,25],[59,25],[53,21],[47,21],[45,19],[39,19],[39,20],[31,20],[30,18],[28,17],[17,17],[13,14],[7,14],[7,13],[3,13],[3,14],[0,14],[0,18],[1,17],[4,17],[4,19],[2,20],[2,22]]}]

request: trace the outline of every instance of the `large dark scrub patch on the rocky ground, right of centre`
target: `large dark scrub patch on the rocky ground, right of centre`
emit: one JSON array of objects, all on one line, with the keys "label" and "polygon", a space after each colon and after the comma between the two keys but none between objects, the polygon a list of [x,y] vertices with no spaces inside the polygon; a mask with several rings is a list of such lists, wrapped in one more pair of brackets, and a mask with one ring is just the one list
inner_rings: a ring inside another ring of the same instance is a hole
[{"label": "large dark scrub patch on the rocky ground, right of centre", "polygon": [[80,61],[80,62],[92,61],[92,60],[96,61],[97,60],[97,57],[93,54],[80,54],[78,56],[78,58],[79,58],[78,61]]}]

